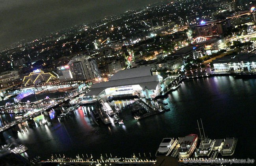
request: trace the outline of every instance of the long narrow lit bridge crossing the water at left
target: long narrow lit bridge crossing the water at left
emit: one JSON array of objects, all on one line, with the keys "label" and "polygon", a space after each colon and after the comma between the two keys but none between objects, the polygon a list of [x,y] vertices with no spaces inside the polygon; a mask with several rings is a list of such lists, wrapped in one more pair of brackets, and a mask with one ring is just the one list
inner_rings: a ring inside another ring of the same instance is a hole
[{"label": "long narrow lit bridge crossing the water at left", "polygon": [[0,128],[0,133],[5,131],[5,130],[7,130],[7,129],[9,129],[9,128],[11,128],[12,126],[15,126],[15,125],[17,125],[19,123],[22,123],[22,122],[26,121],[27,119],[29,119],[32,116],[38,115],[41,112],[44,112],[46,110],[49,110],[49,109],[53,108],[54,106],[57,106],[57,105],[59,105],[61,103],[64,103],[65,101],[68,101],[71,98],[76,97],[76,96],[82,94],[83,92],[85,92],[85,91],[75,92],[74,94],[63,98],[63,99],[59,100],[58,102],[52,103],[51,105],[45,106],[44,108],[40,108],[38,110],[35,110],[35,111],[33,111],[33,112],[29,113],[29,114],[25,114],[22,117],[20,117],[19,119],[16,119],[15,121],[13,121],[13,122],[11,122],[9,124],[6,124],[4,127]]}]

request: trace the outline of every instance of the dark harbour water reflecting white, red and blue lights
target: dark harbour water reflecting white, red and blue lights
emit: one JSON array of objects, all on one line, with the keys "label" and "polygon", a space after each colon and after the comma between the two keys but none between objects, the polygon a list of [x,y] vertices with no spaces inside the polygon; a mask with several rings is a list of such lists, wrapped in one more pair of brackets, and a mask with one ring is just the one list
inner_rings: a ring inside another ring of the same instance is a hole
[{"label": "dark harbour water reflecting white, red and blue lights", "polygon": [[[238,138],[235,158],[255,159],[255,99],[255,79],[230,76],[188,80],[166,99],[171,111],[141,121],[123,111],[124,125],[97,126],[78,109],[63,121],[54,119],[50,125],[30,128],[17,136],[7,131],[4,137],[7,143],[25,144],[28,155],[39,155],[42,159],[63,153],[66,157],[78,153],[93,156],[111,153],[119,157],[139,152],[154,155],[164,137],[198,134],[197,119],[202,118],[205,134],[211,139]],[[122,107],[130,102],[115,101],[115,104]]]}]

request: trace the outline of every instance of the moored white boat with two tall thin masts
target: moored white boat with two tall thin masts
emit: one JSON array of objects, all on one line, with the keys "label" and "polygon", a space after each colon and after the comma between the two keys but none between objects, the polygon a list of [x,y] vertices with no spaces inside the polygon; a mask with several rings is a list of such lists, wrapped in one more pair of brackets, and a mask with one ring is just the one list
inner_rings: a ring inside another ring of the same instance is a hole
[{"label": "moored white boat with two tall thin masts", "polygon": [[197,156],[208,156],[210,155],[213,145],[215,143],[215,140],[212,140],[210,138],[203,139],[200,142],[199,148],[197,149],[196,152],[196,157]]}]

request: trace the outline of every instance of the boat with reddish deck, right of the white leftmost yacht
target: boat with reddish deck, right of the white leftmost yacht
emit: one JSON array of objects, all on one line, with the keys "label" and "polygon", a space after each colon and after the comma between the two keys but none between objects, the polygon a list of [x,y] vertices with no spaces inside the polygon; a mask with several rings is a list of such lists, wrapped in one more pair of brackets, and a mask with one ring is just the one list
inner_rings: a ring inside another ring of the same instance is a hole
[{"label": "boat with reddish deck, right of the white leftmost yacht", "polygon": [[180,141],[180,149],[179,149],[179,159],[187,159],[191,156],[191,154],[194,152],[196,146],[197,146],[197,141],[198,141],[198,136],[197,134],[190,134],[187,135]]}]

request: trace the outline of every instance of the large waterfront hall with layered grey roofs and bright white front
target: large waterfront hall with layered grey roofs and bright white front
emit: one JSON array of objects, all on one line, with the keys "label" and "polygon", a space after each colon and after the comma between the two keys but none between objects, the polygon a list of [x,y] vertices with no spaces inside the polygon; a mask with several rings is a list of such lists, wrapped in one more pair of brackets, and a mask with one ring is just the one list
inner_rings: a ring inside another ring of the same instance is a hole
[{"label": "large waterfront hall with layered grey roofs and bright white front", "polygon": [[151,67],[138,67],[121,70],[109,81],[95,83],[83,97],[87,100],[108,99],[108,97],[139,96],[145,94],[156,96],[160,90],[158,76],[152,75]]}]

